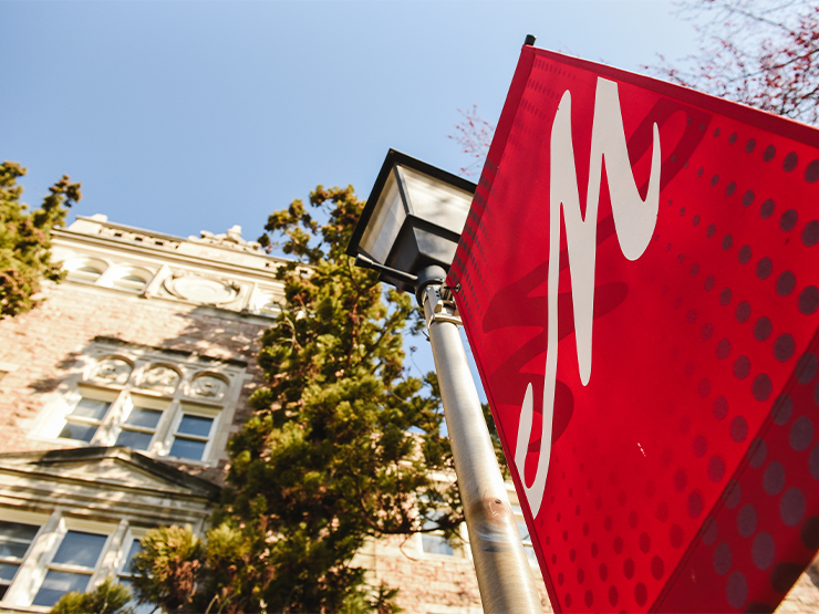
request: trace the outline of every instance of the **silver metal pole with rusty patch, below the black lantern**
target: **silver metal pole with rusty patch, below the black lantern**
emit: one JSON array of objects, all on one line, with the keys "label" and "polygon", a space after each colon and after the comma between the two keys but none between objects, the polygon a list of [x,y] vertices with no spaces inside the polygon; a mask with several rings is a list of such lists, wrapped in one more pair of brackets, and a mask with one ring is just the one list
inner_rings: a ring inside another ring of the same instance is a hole
[{"label": "silver metal pole with rusty patch, below the black lantern", "polygon": [[484,612],[542,614],[531,566],[523,552],[466,361],[458,331],[460,319],[452,299],[442,299],[440,288],[429,283],[424,289],[424,315]]}]

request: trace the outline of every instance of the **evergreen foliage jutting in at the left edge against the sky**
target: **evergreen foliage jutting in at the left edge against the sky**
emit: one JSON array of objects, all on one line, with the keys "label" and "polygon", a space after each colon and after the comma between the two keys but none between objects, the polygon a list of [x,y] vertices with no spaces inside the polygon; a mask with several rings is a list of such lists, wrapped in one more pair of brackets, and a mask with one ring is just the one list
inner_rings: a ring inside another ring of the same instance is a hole
[{"label": "evergreen foliage jutting in at the left edge against the sky", "polygon": [[81,198],[80,184],[63,175],[40,208],[28,212],[17,183],[24,175],[17,163],[0,164],[0,320],[32,309],[43,279],[64,277],[51,261],[51,230],[64,225],[68,207]]}]

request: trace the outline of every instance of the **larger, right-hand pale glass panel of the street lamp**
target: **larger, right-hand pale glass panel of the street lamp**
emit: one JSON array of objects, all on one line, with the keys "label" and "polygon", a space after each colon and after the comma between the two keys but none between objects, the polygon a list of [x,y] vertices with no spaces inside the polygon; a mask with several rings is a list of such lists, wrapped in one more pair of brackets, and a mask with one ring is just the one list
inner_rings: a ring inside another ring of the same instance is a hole
[{"label": "larger, right-hand pale glass panel of the street lamp", "polygon": [[400,166],[409,214],[456,235],[464,231],[473,195],[406,166]]}]

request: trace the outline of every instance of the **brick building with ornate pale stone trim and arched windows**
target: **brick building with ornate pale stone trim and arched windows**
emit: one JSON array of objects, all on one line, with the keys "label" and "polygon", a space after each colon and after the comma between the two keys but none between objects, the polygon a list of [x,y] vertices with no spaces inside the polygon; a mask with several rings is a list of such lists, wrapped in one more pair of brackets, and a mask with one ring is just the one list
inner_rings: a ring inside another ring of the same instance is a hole
[{"label": "brick building with ornate pale stone trim and arched windows", "polygon": [[[127,584],[151,528],[204,531],[282,301],[282,261],[237,227],[182,239],[92,216],[53,244],[66,280],[0,321],[0,612],[48,612],[106,576]],[[356,562],[409,613],[480,612],[466,542],[371,541]],[[781,611],[808,610],[819,591],[806,574]]]}]

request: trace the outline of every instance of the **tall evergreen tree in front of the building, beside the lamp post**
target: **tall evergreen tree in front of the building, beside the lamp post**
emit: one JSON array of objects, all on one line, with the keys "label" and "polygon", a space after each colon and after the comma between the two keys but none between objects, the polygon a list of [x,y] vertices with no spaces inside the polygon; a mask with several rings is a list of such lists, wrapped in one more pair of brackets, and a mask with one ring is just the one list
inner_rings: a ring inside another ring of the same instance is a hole
[{"label": "tall evergreen tree in front of the building, beside the lamp post", "polygon": [[204,543],[153,531],[135,556],[137,595],[167,612],[394,612],[395,589],[369,586],[353,555],[367,538],[456,539],[463,520],[457,487],[433,477],[454,475],[435,375],[403,366],[402,335],[423,320],[344,253],[364,205],[352,187],[319,186],[309,205],[271,215],[260,239],[293,258],[278,272],[287,303],[212,528]]}]

